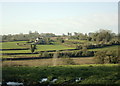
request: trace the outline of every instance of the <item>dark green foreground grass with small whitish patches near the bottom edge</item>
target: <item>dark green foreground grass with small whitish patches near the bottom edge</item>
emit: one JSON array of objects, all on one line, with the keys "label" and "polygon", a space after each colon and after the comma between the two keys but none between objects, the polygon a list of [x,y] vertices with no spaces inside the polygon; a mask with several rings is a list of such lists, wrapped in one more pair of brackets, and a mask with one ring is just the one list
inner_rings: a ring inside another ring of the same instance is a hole
[{"label": "dark green foreground grass with small whitish patches near the bottom edge", "polygon": [[[55,83],[59,86],[77,86],[80,84],[96,84],[102,86],[120,85],[120,67],[115,64],[106,65],[71,65],[71,66],[36,66],[36,67],[3,67],[3,82],[18,81],[25,86],[42,86],[40,79],[48,78],[44,86],[50,84],[50,80],[57,78]],[[81,81],[73,79],[81,77]],[[80,85],[81,86],[81,85]]]}]

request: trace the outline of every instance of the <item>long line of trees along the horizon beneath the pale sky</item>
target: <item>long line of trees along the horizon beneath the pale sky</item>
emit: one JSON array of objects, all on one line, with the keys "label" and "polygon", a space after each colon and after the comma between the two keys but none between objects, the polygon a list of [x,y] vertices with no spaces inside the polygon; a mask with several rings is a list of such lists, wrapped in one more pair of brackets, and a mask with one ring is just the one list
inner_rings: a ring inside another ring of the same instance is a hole
[{"label": "long line of trees along the horizon beneath the pale sky", "polygon": [[[53,33],[41,33],[39,34],[37,31],[32,32],[30,31],[29,34],[16,34],[16,35],[2,35],[3,41],[21,41],[21,40],[35,40],[37,37],[60,37]],[[74,32],[74,35],[72,33],[69,33],[67,35],[63,34],[62,37],[68,37],[69,39],[78,39],[78,40],[88,40],[88,41],[96,41],[96,42],[109,42],[113,39],[118,39],[120,37],[120,34],[112,33],[110,30],[103,30],[100,29],[96,32],[90,32],[88,34],[78,33]]]}]

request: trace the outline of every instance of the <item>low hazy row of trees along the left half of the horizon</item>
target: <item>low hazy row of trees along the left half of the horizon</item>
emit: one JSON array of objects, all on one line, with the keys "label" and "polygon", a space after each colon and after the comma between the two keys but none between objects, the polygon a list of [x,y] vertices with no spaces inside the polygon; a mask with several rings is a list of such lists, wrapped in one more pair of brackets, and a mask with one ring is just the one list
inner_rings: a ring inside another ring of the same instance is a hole
[{"label": "low hazy row of trees along the left half of the horizon", "polygon": [[53,33],[41,33],[39,34],[37,31],[29,32],[29,34],[15,34],[15,35],[2,35],[2,41],[33,41],[37,37],[56,37]]}]

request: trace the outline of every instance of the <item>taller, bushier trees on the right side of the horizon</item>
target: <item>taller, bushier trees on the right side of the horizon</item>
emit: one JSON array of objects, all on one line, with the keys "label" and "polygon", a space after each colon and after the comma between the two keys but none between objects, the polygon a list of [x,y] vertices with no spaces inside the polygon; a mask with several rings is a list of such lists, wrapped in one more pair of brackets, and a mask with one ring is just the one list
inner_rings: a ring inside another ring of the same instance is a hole
[{"label": "taller, bushier trees on the right side of the horizon", "polygon": [[110,30],[103,30],[100,29],[97,32],[83,34],[75,32],[71,39],[78,39],[78,40],[88,40],[88,41],[96,41],[96,42],[109,42],[113,39],[120,37],[120,34],[112,33]]}]

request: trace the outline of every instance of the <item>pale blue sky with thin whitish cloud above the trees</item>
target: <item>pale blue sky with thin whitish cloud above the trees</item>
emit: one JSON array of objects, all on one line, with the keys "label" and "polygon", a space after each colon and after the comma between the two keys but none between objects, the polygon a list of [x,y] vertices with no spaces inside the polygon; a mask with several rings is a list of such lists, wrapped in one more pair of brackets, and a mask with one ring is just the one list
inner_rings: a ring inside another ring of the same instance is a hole
[{"label": "pale blue sky with thin whitish cloud above the trees", "polygon": [[2,2],[0,34],[118,33],[117,2]]}]

